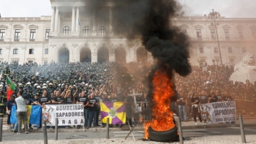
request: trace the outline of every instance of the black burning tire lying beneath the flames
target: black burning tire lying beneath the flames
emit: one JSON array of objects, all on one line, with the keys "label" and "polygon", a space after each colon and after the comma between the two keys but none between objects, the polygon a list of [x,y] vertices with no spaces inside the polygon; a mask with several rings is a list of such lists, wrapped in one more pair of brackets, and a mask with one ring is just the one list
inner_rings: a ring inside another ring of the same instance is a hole
[{"label": "black burning tire lying beneath the flames", "polygon": [[177,137],[177,127],[173,127],[173,129],[158,132],[154,129],[148,127],[148,134],[150,140],[157,141],[157,142],[170,142],[171,140],[174,140]]}]

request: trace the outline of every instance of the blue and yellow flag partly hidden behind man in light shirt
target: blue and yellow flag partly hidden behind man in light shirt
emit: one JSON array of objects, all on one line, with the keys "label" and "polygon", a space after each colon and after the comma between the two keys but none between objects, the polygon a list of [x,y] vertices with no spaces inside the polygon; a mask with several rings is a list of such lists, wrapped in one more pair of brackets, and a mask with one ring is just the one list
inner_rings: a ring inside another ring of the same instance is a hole
[{"label": "blue and yellow flag partly hidden behind man in light shirt", "polygon": [[[16,117],[16,105],[12,105],[10,123],[15,124],[17,121]],[[27,105],[28,110],[28,124],[40,124],[41,106],[40,105]]]}]

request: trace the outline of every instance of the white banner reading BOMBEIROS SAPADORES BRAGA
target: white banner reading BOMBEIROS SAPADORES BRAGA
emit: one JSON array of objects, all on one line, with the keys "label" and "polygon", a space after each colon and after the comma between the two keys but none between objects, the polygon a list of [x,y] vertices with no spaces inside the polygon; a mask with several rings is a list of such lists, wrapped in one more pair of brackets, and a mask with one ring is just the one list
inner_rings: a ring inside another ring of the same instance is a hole
[{"label": "white banner reading BOMBEIROS SAPADORES BRAGA", "polygon": [[42,108],[42,121],[47,126],[55,126],[55,118],[58,118],[59,126],[83,125],[83,105],[45,105]]}]

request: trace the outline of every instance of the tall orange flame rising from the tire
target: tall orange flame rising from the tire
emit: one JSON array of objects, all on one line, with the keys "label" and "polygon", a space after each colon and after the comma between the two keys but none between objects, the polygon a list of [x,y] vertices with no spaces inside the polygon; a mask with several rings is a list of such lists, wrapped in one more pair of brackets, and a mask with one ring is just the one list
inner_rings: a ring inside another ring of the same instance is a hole
[{"label": "tall orange flame rising from the tire", "polygon": [[148,139],[148,127],[151,126],[155,131],[167,131],[172,129],[173,112],[170,111],[170,96],[174,96],[173,82],[167,73],[157,71],[153,78],[153,99],[154,107],[152,109],[152,120],[144,123],[145,139]]}]

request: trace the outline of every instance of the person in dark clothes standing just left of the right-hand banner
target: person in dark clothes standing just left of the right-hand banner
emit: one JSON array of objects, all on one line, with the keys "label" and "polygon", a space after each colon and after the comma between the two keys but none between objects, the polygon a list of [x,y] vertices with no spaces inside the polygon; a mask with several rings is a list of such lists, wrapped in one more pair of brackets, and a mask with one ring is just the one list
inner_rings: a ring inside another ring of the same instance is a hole
[{"label": "person in dark clothes standing just left of the right-hand banner", "polygon": [[192,94],[191,98],[191,105],[192,105],[192,117],[194,118],[195,125],[197,125],[197,116],[202,124],[202,118],[200,114],[200,99],[198,98],[198,94],[195,92]]}]

